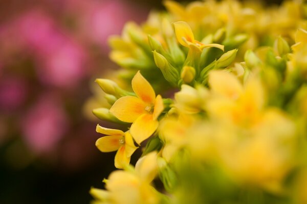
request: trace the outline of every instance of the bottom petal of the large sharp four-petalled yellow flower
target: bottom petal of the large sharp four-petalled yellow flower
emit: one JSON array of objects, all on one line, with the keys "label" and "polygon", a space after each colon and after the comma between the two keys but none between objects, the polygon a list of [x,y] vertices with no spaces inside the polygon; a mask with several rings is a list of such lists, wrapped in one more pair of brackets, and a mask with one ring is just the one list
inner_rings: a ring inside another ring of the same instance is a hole
[{"label": "bottom petal of the large sharp four-petalled yellow flower", "polygon": [[140,144],[152,135],[158,128],[159,122],[153,120],[152,114],[143,114],[130,128],[131,135]]}]

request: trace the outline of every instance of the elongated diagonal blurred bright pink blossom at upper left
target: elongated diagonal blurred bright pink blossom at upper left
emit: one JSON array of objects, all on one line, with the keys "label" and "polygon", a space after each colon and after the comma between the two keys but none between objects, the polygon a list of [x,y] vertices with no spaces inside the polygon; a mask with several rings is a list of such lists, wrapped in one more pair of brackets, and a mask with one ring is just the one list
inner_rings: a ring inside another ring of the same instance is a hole
[{"label": "elongated diagonal blurred bright pink blossom at upper left", "polygon": [[20,33],[34,50],[38,77],[43,84],[72,88],[86,73],[86,56],[80,45],[56,28],[40,11],[20,17]]}]

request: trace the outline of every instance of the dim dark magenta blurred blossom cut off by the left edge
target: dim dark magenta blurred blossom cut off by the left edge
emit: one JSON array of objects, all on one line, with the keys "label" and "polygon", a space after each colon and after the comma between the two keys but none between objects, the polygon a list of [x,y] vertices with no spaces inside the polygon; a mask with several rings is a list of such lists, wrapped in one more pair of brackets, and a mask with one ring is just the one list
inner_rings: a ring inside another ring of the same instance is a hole
[{"label": "dim dark magenta blurred blossom cut off by the left edge", "polygon": [[12,111],[25,102],[27,85],[23,79],[4,78],[0,81],[0,110]]}]

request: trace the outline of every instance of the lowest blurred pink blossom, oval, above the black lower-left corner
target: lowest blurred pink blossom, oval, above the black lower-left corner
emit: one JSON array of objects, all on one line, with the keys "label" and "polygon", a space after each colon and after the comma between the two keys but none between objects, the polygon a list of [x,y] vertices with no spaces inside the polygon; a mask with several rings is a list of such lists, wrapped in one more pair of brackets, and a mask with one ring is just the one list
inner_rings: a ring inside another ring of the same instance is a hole
[{"label": "lowest blurred pink blossom, oval, above the black lower-left corner", "polygon": [[68,129],[68,121],[57,100],[42,96],[21,121],[25,141],[37,153],[55,148]]}]

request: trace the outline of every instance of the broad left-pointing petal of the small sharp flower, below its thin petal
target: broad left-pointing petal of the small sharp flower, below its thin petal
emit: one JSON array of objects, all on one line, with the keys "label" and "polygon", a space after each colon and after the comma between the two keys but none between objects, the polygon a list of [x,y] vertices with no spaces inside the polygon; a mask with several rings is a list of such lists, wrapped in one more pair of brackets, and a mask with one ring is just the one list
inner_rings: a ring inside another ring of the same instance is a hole
[{"label": "broad left-pointing petal of the small sharp flower, below its thin petal", "polygon": [[97,148],[102,152],[116,151],[120,147],[119,140],[122,135],[105,136],[96,141]]}]

